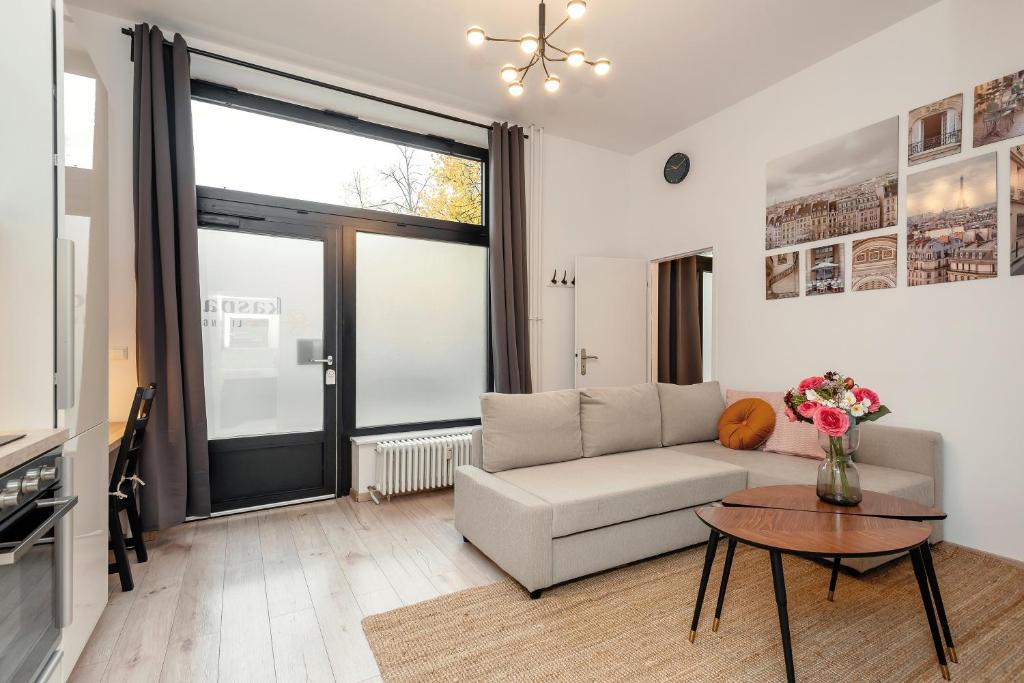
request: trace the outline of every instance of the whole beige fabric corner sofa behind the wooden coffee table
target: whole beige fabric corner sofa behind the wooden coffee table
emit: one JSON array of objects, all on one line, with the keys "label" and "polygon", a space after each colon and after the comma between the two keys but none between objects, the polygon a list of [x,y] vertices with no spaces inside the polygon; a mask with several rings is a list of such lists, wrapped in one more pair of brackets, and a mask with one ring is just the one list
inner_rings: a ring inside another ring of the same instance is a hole
[{"label": "whole beige fabric corner sofa behind the wooden coffee table", "polygon": [[[819,461],[715,442],[717,382],[484,394],[455,525],[538,597],[545,588],[708,539],[701,505],[748,487],[814,483]],[[935,432],[861,427],[861,485],[942,505]],[[932,542],[941,540],[934,524]],[[857,571],[889,558],[844,560]]]}]

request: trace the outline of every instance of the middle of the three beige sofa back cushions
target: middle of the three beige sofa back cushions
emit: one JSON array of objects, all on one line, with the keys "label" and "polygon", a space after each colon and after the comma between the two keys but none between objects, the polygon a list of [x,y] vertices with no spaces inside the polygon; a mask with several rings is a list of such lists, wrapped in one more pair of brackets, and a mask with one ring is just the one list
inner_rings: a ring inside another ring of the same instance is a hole
[{"label": "middle of the three beige sofa back cushions", "polygon": [[584,458],[662,445],[662,405],[654,384],[580,390]]}]

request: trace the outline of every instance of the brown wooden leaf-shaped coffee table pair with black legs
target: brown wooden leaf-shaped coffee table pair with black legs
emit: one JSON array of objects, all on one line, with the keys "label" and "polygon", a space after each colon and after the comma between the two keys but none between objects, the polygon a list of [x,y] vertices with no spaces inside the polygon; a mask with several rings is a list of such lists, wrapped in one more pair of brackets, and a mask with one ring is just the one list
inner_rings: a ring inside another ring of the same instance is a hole
[{"label": "brown wooden leaf-shaped coffee table pair with black legs", "polygon": [[[855,507],[833,506],[818,501],[813,486],[765,486],[752,488],[723,500],[725,507],[702,507],[697,516],[711,527],[703,572],[693,608],[690,642],[696,637],[700,608],[708,589],[715,552],[721,537],[729,540],[715,609],[713,631],[718,630],[736,543],[767,550],[771,559],[775,602],[785,657],[786,680],[795,681],[790,622],[782,573],[782,554],[833,560],[829,593],[835,592],[840,560],[844,557],[874,557],[907,551],[921,591],[925,614],[932,632],[935,653],[942,676],[949,680],[936,611],[952,661],[956,661],[938,581],[928,549],[931,527],[920,520],[942,519],[938,510],[893,496],[864,492],[864,501]],[[934,605],[933,605],[934,600]]]}]

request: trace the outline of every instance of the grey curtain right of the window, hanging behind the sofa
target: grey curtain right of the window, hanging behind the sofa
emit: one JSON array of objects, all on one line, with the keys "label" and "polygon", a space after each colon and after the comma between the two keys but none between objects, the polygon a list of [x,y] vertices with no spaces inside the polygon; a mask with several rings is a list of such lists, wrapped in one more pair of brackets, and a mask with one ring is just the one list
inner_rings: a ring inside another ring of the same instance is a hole
[{"label": "grey curtain right of the window, hanging behind the sofa", "polygon": [[490,345],[495,391],[530,393],[526,181],[520,126],[490,127]]}]

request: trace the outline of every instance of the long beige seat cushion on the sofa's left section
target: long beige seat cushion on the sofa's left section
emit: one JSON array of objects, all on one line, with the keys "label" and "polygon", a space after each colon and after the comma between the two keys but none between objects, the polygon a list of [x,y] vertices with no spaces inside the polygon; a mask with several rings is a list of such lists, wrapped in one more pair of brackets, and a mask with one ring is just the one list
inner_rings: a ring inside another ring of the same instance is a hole
[{"label": "long beige seat cushion on the sofa's left section", "polygon": [[746,472],[739,467],[671,449],[538,465],[495,476],[551,505],[555,538],[711,503],[746,485]]}]

